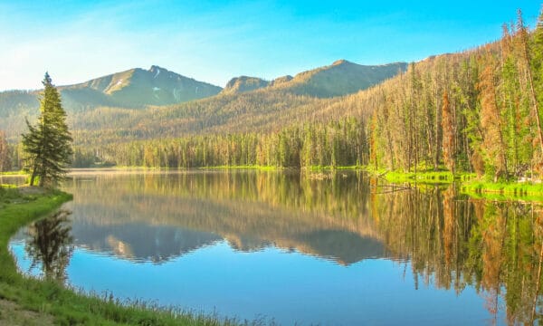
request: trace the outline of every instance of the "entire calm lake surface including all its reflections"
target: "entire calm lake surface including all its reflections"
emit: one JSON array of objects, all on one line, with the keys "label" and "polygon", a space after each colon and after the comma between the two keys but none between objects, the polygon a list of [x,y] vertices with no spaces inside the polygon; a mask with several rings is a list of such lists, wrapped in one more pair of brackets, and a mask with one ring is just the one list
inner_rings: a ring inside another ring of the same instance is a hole
[{"label": "entire calm lake surface including all its reflections", "polygon": [[[543,210],[363,173],[79,173],[14,236],[24,273],[284,325],[512,324],[542,313]],[[540,278],[540,277],[539,277]]]}]

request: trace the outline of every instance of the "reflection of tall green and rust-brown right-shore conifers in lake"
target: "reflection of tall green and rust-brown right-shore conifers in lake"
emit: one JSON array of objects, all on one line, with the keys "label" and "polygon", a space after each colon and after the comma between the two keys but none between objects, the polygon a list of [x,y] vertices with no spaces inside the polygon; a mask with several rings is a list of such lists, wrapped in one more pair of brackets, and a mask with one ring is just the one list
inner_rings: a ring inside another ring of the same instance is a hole
[{"label": "reflection of tall green and rust-brown right-shore conifers in lake", "polygon": [[495,322],[503,309],[510,324],[540,318],[540,205],[462,197],[454,187],[373,197],[371,205],[387,248],[409,255],[415,286],[473,286]]}]

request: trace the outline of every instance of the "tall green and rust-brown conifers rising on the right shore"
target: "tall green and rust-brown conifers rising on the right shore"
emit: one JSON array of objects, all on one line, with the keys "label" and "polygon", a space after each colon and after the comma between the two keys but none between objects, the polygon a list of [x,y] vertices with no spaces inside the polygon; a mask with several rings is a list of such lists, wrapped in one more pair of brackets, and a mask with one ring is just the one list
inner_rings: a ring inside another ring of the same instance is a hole
[{"label": "tall green and rust-brown conifers rising on the right shore", "polygon": [[447,168],[494,180],[543,168],[543,25],[519,12],[499,42],[412,64],[377,87],[368,122],[370,164]]}]

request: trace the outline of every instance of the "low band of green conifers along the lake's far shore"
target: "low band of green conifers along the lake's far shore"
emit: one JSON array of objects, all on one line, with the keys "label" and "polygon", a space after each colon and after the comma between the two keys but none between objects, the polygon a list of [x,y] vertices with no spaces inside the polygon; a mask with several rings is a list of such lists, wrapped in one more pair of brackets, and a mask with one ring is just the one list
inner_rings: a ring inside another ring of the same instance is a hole
[{"label": "low band of green conifers along the lake's far shore", "polygon": [[149,168],[218,166],[353,166],[367,162],[364,124],[349,118],[306,123],[273,133],[190,136],[75,149],[73,166],[105,164]]}]

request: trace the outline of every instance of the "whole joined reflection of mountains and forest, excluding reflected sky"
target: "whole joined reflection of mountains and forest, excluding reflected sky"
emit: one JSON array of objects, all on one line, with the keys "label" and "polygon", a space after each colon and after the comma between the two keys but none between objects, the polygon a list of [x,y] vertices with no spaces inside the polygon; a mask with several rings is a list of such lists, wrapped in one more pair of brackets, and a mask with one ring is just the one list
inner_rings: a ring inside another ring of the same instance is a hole
[{"label": "whole joined reflection of mountains and forest, excluding reflected sky", "polygon": [[91,250],[161,263],[226,240],[239,251],[273,245],[337,264],[386,258],[409,262],[415,287],[473,287],[509,323],[538,321],[542,206],[382,186],[357,172],[207,171],[78,176],[67,188],[71,234]]}]

